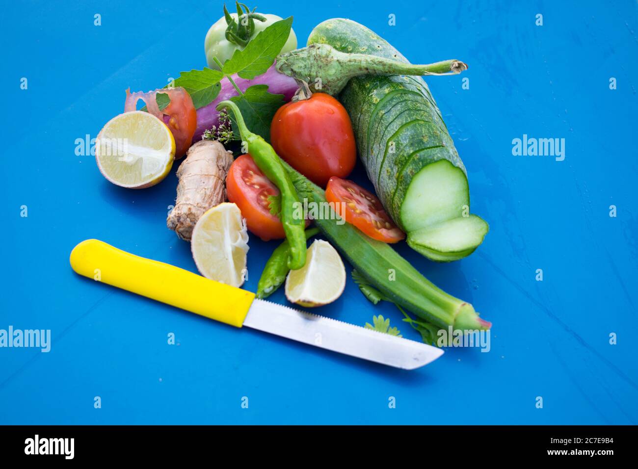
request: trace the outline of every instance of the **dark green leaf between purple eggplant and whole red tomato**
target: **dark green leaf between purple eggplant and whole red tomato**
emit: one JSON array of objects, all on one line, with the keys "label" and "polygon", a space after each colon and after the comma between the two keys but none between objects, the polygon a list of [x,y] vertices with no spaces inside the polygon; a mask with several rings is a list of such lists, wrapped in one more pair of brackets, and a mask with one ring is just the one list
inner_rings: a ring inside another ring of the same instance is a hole
[{"label": "dark green leaf between purple eggplant and whole red tomato", "polygon": [[[230,100],[239,107],[248,130],[270,142],[272,117],[285,104],[283,94],[268,93],[268,85],[253,85],[242,96],[234,96]],[[234,117],[232,121],[236,129]],[[235,135],[239,136],[239,131],[235,131]]]}]

